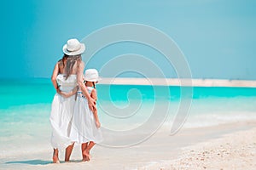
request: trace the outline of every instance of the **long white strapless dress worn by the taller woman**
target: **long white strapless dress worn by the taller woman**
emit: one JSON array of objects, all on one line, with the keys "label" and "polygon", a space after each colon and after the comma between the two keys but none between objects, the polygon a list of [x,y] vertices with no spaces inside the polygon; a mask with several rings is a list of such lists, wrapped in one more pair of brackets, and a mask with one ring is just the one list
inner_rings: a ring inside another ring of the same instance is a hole
[{"label": "long white strapless dress worn by the taller woman", "polygon": [[[56,78],[61,91],[70,92],[77,86],[77,76],[70,75],[67,80],[62,74]],[[64,98],[60,94],[55,94],[51,105],[49,122],[52,127],[50,143],[53,148],[65,149],[73,144],[70,139],[71,122],[73,119],[73,110],[75,105],[75,95]]]}]

